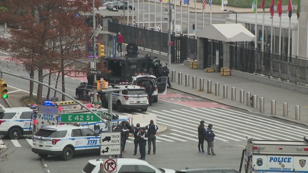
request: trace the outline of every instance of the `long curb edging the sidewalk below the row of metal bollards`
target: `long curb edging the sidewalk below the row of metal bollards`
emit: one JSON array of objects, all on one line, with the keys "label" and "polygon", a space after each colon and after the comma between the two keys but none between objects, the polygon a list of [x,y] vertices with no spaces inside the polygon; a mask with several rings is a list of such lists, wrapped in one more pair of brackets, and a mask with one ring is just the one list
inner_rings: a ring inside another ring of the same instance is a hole
[{"label": "long curb edging the sidewalk below the row of metal bollards", "polygon": [[246,108],[243,108],[243,107],[233,106],[233,105],[230,105],[230,104],[227,104],[227,103],[223,103],[223,102],[220,102],[220,101],[217,101],[217,100],[214,100],[214,99],[210,99],[210,98],[207,98],[207,97],[204,97],[204,96],[201,96],[201,95],[197,95],[197,94],[194,94],[194,93],[191,93],[191,92],[187,92],[187,91],[184,91],[184,90],[180,90],[180,89],[177,89],[177,88],[172,88],[172,87],[169,87],[169,86],[168,86],[168,88],[171,89],[171,90],[180,91],[180,92],[183,92],[183,93],[186,93],[186,94],[189,94],[189,95],[193,95],[193,96],[196,96],[196,97],[199,97],[199,98],[202,98],[202,99],[207,99],[207,100],[210,100],[210,101],[213,101],[213,102],[216,102],[216,103],[220,103],[220,104],[225,105],[225,106],[234,107],[234,108],[237,108],[237,109],[248,111],[248,112],[251,112],[251,113],[254,113],[254,114],[257,114],[257,115],[268,116],[268,117],[272,117],[272,118],[275,118],[275,119],[281,119],[281,120],[288,121],[288,122],[291,122],[291,123],[308,126],[308,124],[305,124],[305,123],[297,122],[297,121],[294,121],[294,120],[291,120],[291,119],[282,118],[282,117],[279,117],[279,116],[271,116],[271,115],[256,113],[256,112],[253,112],[253,111],[246,109]]}]

